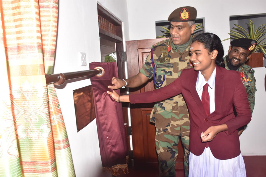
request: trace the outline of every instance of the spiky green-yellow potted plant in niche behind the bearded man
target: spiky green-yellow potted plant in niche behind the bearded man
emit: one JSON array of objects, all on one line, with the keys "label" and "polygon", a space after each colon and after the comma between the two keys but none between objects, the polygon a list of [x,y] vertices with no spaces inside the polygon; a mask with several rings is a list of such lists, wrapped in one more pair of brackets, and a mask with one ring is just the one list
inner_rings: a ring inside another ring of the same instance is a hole
[{"label": "spiky green-yellow potted plant in niche behind the bearded man", "polygon": [[[266,34],[266,24],[260,25],[256,30],[254,27],[255,26],[254,23],[250,19],[249,19],[249,23],[247,24],[248,30],[246,30],[244,27],[241,27],[240,25],[237,25],[237,24],[234,24],[234,25],[236,27],[234,27],[230,30],[231,33],[228,33],[231,37],[227,38],[225,40],[238,39],[238,38],[248,38],[248,39],[256,40],[257,46],[253,50],[253,52],[252,52],[253,56],[251,56],[251,58],[249,60],[251,61],[252,58],[253,58],[253,60],[254,60],[254,58],[257,58],[257,57],[254,57],[254,55],[255,55],[255,53],[258,53],[260,51],[263,53],[264,56],[266,56],[266,35],[265,35]],[[225,40],[223,40],[223,41],[225,41]],[[261,66],[259,66],[259,67],[262,67],[263,55],[261,54],[260,55],[261,57],[259,59],[257,59],[261,63]],[[250,61],[247,61],[247,62],[250,62]],[[250,63],[247,63],[247,64],[250,65]]]}]

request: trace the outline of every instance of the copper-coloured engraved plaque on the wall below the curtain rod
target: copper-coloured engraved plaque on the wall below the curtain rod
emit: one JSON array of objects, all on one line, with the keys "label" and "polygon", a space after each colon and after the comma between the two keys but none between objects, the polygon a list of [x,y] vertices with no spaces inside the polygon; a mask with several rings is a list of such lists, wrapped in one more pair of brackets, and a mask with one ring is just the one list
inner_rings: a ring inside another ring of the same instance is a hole
[{"label": "copper-coloured engraved plaque on the wall below the curtain rod", "polygon": [[77,132],[95,119],[92,86],[73,90]]}]

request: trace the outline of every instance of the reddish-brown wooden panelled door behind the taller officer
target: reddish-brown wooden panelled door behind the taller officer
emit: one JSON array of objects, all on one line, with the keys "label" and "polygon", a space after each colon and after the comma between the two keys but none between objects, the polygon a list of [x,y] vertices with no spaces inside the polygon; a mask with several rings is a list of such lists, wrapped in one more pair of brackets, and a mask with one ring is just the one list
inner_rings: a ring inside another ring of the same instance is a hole
[{"label": "reddish-brown wooden panelled door behind the taller officer", "polygon": [[[126,41],[126,56],[128,77],[139,73],[145,63],[151,46],[163,39]],[[130,94],[154,90],[153,80],[149,80],[143,86],[129,89]],[[150,123],[152,104],[130,104],[132,145],[134,166],[136,168],[154,168],[158,170],[157,153],[155,149],[155,125]],[[179,154],[176,160],[176,169],[184,169],[184,149],[179,140]]]}]

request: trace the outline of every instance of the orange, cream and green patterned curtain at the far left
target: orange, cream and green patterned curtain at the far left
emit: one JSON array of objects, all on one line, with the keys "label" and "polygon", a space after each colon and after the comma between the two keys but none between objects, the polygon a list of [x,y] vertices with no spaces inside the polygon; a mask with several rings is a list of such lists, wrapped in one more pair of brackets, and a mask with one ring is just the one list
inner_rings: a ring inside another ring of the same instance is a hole
[{"label": "orange, cream and green patterned curtain at the far left", "polygon": [[0,176],[75,176],[53,84],[58,0],[0,0]]}]

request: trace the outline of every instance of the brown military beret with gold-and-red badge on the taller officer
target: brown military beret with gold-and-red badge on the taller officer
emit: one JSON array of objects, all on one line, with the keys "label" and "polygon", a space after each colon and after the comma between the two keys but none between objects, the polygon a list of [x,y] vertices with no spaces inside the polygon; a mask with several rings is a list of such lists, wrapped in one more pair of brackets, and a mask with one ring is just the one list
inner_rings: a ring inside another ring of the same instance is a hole
[{"label": "brown military beret with gold-and-red badge on the taller officer", "polygon": [[168,17],[170,22],[189,22],[197,18],[197,10],[194,7],[185,6],[174,10]]}]

